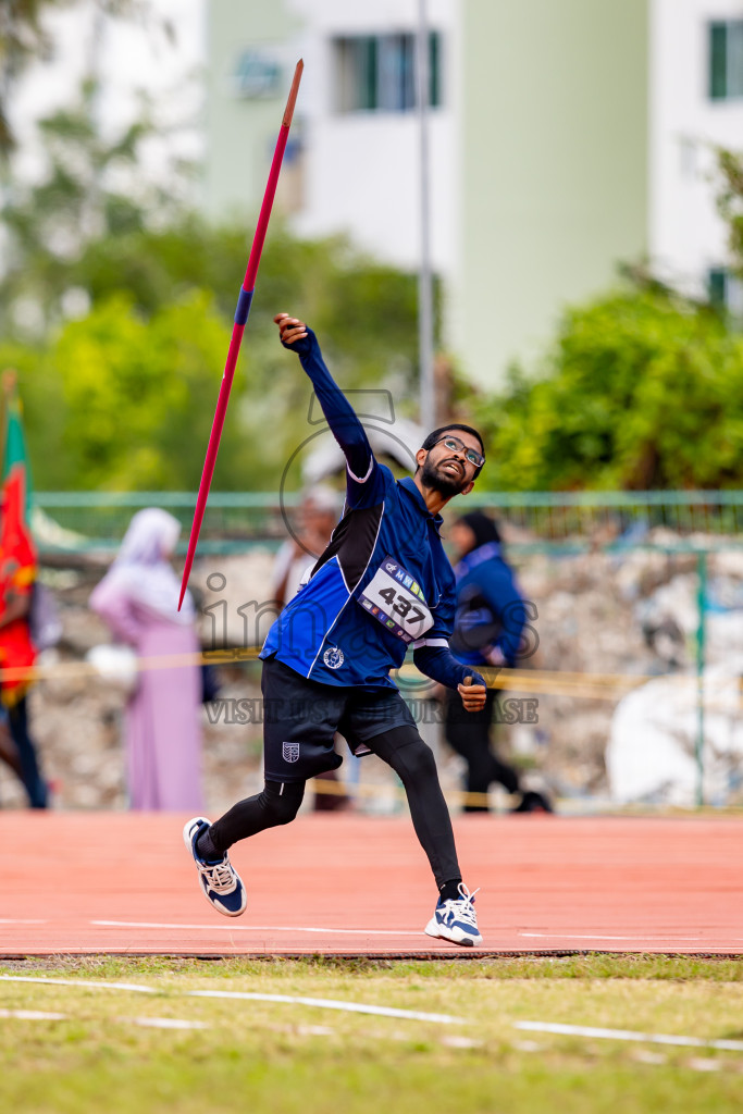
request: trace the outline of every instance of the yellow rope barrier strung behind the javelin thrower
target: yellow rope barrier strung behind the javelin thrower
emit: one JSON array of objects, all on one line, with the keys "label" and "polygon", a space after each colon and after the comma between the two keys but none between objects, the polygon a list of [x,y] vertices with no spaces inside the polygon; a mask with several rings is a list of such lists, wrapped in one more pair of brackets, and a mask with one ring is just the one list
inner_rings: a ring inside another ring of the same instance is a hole
[{"label": "yellow rope barrier strung behind the javelin thrower", "polygon": [[[251,646],[206,651],[204,653],[167,654],[156,657],[138,657],[136,666],[137,673],[147,673],[156,670],[184,668],[195,665],[235,665],[256,661],[258,653],[260,649],[257,646]],[[697,677],[691,674],[570,673],[549,670],[506,668],[483,668],[481,672],[489,688],[496,688],[501,692],[534,693],[547,696],[574,696],[583,700],[617,701],[633,690],[651,681],[658,680],[664,680],[680,688],[691,687],[695,694],[697,693],[698,685]],[[421,677],[421,674],[413,665],[403,665],[398,671],[398,675],[402,681],[414,681]],[[74,680],[92,676],[101,681],[107,680],[106,673],[91,662],[58,662],[0,670],[0,682]],[[430,682],[427,683],[430,684]],[[707,688],[710,684],[710,681],[705,682]],[[743,697],[743,678],[739,680],[737,687],[741,697]],[[414,690],[409,691],[407,695],[414,697]],[[422,684],[420,695],[421,698],[426,698]]]}]

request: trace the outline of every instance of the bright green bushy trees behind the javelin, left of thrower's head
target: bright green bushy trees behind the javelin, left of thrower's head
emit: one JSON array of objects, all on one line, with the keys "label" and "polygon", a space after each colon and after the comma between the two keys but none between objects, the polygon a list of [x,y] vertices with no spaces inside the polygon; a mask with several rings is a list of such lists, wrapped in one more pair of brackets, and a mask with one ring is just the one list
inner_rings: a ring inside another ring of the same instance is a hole
[{"label": "bright green bushy trees behind the javelin, left of thrower's head", "polygon": [[[198,483],[247,238],[190,217],[177,229],[94,241],[71,287],[88,293],[91,310],[40,343],[0,344],[0,363],[19,370],[39,489]],[[275,486],[312,432],[311,385],[278,344],[274,313],[310,321],[346,387],[384,380],[399,405],[414,399],[416,305],[413,276],[342,241],[295,241],[272,227],[215,487]]]}]

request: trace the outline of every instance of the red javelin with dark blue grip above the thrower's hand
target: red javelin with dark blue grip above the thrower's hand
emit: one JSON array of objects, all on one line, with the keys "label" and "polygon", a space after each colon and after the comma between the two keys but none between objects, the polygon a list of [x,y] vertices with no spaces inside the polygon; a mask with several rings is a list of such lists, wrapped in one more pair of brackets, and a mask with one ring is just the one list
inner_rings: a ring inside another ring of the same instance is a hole
[{"label": "red javelin with dark blue grip above the thrower's hand", "polygon": [[273,199],[276,193],[276,183],[278,182],[278,174],[281,172],[282,159],[284,157],[284,152],[286,149],[286,140],[289,139],[289,129],[292,126],[292,116],[294,115],[294,105],[296,102],[296,95],[300,90],[300,81],[302,80],[303,69],[304,69],[304,62],[300,58],[299,62],[296,63],[296,68],[294,70],[294,79],[292,80],[292,88],[289,91],[286,108],[284,109],[284,116],[281,121],[281,128],[278,129],[278,138],[276,139],[276,149],[274,150],[273,163],[271,164],[271,170],[268,172],[268,182],[266,183],[266,192],[263,195],[263,204],[261,205],[261,213],[258,215],[258,221],[255,226],[255,235],[253,236],[253,246],[251,247],[251,255],[247,261],[247,270],[245,272],[245,277],[243,278],[243,285],[241,286],[239,296],[237,299],[237,309],[235,310],[235,323],[232,330],[232,340],[229,342],[229,351],[227,352],[227,362],[225,363],[224,375],[222,377],[219,398],[217,399],[217,408],[214,413],[214,421],[212,423],[209,443],[206,449],[206,459],[204,460],[204,471],[202,472],[202,481],[198,485],[198,496],[196,499],[196,509],[194,511],[194,521],[190,527],[190,537],[188,538],[188,553],[186,554],[186,566],[183,570],[183,579],[180,582],[180,598],[178,599],[178,610],[180,610],[180,605],[183,604],[183,597],[186,594],[186,587],[188,585],[188,577],[190,576],[190,567],[194,564],[196,543],[198,541],[198,532],[202,528],[204,511],[206,510],[206,500],[209,495],[212,477],[214,476],[214,466],[216,463],[217,451],[219,449],[219,438],[222,437],[222,427],[224,426],[224,419],[227,412],[227,402],[229,401],[229,389],[232,388],[232,381],[235,375],[235,364],[237,363],[239,344],[243,339],[243,333],[245,332],[247,315],[251,312],[251,302],[253,301],[253,294],[255,293],[255,276],[257,274],[258,263],[261,262],[261,252],[263,251],[263,242],[266,238],[266,229],[268,227],[268,221],[271,218],[271,208],[273,206]]}]

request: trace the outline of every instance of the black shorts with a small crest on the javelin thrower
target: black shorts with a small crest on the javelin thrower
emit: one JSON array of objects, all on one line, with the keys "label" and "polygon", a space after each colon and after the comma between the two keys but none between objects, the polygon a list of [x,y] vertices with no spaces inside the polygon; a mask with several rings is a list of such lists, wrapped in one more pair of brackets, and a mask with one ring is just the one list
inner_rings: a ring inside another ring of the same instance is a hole
[{"label": "black shorts with a small crest on the javelin thrower", "polygon": [[263,663],[261,688],[267,781],[306,781],[338,770],[343,759],[333,749],[336,731],[353,753],[365,753],[365,744],[375,735],[392,727],[416,727],[397,688],[363,692],[321,685],[275,657]]}]

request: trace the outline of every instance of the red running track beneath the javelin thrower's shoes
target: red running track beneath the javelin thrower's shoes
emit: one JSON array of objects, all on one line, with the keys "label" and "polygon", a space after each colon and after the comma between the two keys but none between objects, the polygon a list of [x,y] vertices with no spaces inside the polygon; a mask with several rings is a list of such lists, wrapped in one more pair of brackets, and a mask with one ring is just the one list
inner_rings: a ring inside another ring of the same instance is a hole
[{"label": "red running track beneath the javelin thrower's shoes", "polygon": [[423,935],[434,887],[403,819],[307,814],[232,851],[234,920],[197,887],[184,815],[0,814],[0,955],[743,954],[743,819],[461,817],[481,948]]}]

